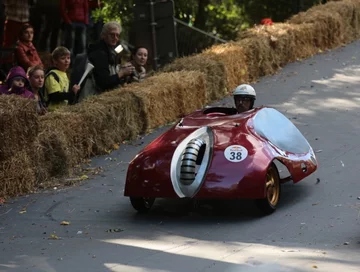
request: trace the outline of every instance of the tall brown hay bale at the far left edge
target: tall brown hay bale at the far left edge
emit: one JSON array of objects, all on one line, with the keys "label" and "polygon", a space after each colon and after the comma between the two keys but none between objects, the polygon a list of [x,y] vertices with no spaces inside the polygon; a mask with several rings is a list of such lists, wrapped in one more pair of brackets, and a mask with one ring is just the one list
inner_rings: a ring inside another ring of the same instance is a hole
[{"label": "tall brown hay bale at the far left edge", "polygon": [[31,192],[36,183],[33,143],[39,131],[34,100],[0,95],[0,196]]}]

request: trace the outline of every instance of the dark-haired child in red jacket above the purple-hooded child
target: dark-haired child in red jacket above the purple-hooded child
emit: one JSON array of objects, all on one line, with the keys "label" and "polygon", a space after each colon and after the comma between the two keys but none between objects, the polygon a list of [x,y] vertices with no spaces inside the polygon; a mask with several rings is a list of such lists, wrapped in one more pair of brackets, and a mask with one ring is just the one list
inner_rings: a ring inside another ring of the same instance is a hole
[{"label": "dark-haired child in red jacket above the purple-hooded child", "polygon": [[34,38],[34,28],[25,24],[20,30],[19,40],[15,48],[15,59],[24,70],[34,65],[43,65],[36,51],[35,46],[32,43]]}]

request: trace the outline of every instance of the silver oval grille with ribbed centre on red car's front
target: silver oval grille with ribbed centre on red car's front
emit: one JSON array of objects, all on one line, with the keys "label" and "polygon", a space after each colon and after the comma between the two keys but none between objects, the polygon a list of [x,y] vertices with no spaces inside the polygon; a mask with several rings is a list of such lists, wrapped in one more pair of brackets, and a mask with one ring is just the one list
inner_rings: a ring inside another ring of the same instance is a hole
[{"label": "silver oval grille with ribbed centre on red car's front", "polygon": [[171,182],[179,197],[193,197],[205,180],[213,151],[209,127],[195,130],[176,148],[171,161]]}]

